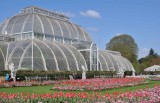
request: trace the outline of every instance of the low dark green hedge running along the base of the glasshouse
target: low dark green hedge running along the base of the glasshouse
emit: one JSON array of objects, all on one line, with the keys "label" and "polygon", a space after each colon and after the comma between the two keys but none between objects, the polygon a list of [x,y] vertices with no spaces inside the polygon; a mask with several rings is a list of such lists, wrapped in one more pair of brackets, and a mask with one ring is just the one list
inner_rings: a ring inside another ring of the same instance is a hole
[{"label": "low dark green hedge running along the base of the glasshouse", "polygon": [[[0,71],[1,76],[5,76],[6,73],[10,73],[8,70]],[[115,71],[87,71],[86,77],[87,78],[94,78],[94,76],[99,75],[107,75],[113,76],[116,74]],[[82,71],[44,71],[44,70],[18,70],[16,72],[16,76],[19,77],[21,80],[25,80],[25,76],[27,77],[50,77],[51,80],[59,80],[59,79],[69,79],[69,75],[78,76],[78,78],[82,78]]]}]

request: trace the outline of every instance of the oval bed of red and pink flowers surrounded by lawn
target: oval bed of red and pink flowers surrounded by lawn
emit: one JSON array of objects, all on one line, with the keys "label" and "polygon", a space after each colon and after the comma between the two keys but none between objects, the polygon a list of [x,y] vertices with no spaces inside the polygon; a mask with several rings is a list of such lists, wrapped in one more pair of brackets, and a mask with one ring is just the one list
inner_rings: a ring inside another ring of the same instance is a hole
[{"label": "oval bed of red and pink flowers surrounded by lawn", "polygon": [[66,80],[55,84],[56,90],[103,90],[145,84],[144,78],[96,78],[86,80]]}]

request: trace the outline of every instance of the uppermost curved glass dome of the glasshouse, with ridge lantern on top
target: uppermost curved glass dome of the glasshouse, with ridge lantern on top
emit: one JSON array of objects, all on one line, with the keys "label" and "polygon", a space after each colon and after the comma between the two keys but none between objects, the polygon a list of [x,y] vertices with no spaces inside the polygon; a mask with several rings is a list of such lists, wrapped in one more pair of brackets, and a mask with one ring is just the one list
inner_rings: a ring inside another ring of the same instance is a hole
[{"label": "uppermost curved glass dome of the glasshouse, with ridge lantern on top", "polygon": [[0,33],[16,35],[29,32],[82,42],[92,42],[88,33],[73,24],[62,14],[37,7],[24,8],[21,13],[11,17],[0,25]]}]

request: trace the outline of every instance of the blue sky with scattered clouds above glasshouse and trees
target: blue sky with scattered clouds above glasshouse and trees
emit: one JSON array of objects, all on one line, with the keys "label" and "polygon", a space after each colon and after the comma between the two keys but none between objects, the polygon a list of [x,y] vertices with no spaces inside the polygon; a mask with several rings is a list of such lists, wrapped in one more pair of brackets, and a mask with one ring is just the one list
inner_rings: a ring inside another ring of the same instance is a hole
[{"label": "blue sky with scattered clouds above glasshouse and trees", "polygon": [[160,0],[0,0],[0,22],[26,6],[63,12],[81,25],[101,49],[120,34],[130,34],[139,58],[153,48],[160,54]]}]

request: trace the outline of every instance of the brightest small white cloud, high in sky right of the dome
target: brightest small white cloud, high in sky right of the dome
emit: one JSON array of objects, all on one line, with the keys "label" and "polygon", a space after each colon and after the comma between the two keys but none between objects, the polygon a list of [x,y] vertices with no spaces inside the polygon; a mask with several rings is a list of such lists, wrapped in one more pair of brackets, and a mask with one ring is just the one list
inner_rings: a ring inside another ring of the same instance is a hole
[{"label": "brightest small white cloud, high in sky right of the dome", "polygon": [[85,12],[81,11],[80,14],[82,16],[86,16],[86,17],[101,18],[99,12],[97,12],[95,10],[87,10]]}]

